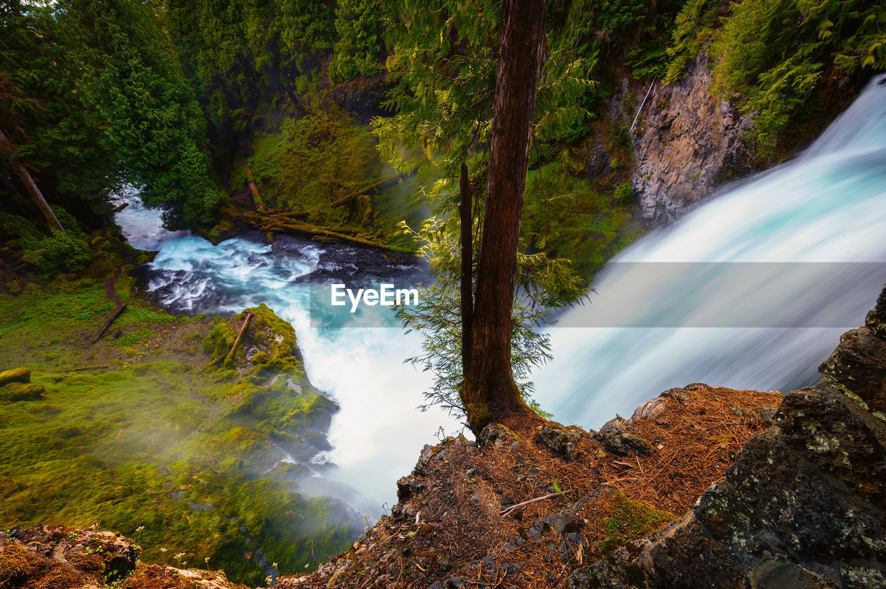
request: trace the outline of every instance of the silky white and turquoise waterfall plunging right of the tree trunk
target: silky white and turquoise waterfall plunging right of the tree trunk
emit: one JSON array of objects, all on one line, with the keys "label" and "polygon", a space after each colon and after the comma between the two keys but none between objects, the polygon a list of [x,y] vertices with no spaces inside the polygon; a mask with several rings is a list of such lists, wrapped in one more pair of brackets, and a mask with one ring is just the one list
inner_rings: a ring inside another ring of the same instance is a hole
[{"label": "silky white and turquoise waterfall plunging right of the tree trunk", "polygon": [[811,385],[873,307],[883,263],[886,75],[802,155],[606,264],[590,304],[549,330],[539,401],[564,423],[599,427],[692,382]]}]

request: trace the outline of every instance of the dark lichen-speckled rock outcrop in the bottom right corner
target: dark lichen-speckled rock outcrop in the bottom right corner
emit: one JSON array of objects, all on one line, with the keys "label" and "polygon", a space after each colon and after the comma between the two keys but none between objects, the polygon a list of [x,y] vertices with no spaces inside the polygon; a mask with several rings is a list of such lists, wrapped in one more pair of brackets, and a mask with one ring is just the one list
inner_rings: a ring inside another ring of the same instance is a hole
[{"label": "dark lichen-speckled rock outcrop in the bottom right corner", "polygon": [[567,586],[886,586],[884,316],[886,290],[687,515]]}]

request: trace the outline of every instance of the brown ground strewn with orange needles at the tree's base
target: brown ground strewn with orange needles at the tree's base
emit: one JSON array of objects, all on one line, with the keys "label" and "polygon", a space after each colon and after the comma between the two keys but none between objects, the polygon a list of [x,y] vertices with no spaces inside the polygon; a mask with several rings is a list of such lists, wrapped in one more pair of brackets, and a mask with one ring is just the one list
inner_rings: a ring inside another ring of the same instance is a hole
[{"label": "brown ground strewn with orange needles at the tree's base", "polygon": [[392,515],[315,573],[275,587],[417,588],[453,576],[464,584],[456,586],[562,586],[579,565],[688,512],[742,444],[771,425],[755,409],[781,403],[777,392],[706,385],[662,396],[664,412],[630,425],[648,455],[613,455],[584,435],[566,462],[533,442],[535,420],[509,424],[517,443],[450,438],[425,447],[400,479]]}]

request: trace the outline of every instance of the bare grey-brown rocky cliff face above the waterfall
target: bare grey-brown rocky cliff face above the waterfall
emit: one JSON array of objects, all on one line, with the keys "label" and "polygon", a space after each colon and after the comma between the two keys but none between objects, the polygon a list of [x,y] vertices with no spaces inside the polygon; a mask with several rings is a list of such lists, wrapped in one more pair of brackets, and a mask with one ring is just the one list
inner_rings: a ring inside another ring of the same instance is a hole
[{"label": "bare grey-brown rocky cliff face above the waterfall", "polygon": [[[685,78],[640,87],[623,81],[610,103],[610,119],[630,113],[634,192],[643,218],[666,225],[727,180],[753,171],[742,136],[751,119],[734,103],[711,97],[707,57],[696,57]],[[644,96],[645,103],[643,102]],[[627,97],[633,108],[625,108]],[[638,114],[639,113],[639,114]]]}]

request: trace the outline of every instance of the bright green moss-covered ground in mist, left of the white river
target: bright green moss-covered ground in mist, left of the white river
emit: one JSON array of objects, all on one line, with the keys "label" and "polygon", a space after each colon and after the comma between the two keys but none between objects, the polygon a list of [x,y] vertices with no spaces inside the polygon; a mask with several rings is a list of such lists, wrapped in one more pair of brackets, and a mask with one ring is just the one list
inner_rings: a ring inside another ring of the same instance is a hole
[{"label": "bright green moss-covered ground in mist, left of the white river", "polygon": [[[237,353],[206,369],[245,314],[171,316],[126,268],[111,284],[119,264],[0,295],[0,370],[27,367],[44,388],[0,395],[0,525],[96,525],[131,535],[145,562],[208,558],[250,585],[272,562],[311,569],[346,547],[358,526],[345,506],[302,496],[304,467],[278,463],[279,447],[323,447],[335,409],[307,381],[291,326],[249,310]],[[112,295],[128,307],[89,345]]]}]

